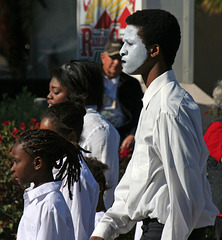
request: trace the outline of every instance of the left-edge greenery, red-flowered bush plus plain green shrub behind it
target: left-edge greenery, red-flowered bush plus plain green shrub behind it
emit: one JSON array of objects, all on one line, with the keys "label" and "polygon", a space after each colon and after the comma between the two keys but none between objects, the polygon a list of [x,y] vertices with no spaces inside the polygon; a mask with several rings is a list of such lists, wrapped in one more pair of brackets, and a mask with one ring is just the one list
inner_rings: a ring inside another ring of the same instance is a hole
[{"label": "left-edge greenery, red-flowered bush plus plain green shrub behind it", "polygon": [[[15,239],[23,212],[24,189],[12,179],[10,150],[25,129],[38,128],[44,107],[34,103],[35,96],[27,88],[0,102],[0,239]],[[31,119],[31,120],[30,120]]]}]

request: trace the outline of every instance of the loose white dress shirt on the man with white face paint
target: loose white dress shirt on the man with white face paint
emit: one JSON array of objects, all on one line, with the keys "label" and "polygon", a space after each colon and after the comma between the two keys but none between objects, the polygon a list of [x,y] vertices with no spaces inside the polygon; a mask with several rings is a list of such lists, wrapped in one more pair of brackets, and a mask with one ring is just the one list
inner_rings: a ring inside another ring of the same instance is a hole
[{"label": "loose white dress shirt on the man with white face paint", "polygon": [[165,224],[162,240],[187,240],[213,225],[207,157],[199,107],[172,70],[163,73],[145,92],[132,159],[92,236],[108,240],[147,217]]}]

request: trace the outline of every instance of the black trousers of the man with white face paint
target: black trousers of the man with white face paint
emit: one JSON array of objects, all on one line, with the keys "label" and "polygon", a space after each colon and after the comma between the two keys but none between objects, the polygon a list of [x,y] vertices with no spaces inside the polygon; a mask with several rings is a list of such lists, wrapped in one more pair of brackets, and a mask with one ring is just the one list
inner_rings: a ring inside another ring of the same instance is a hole
[{"label": "black trousers of the man with white face paint", "polygon": [[[161,224],[157,219],[146,218],[143,220],[143,234],[140,240],[160,240],[164,224]],[[205,228],[194,229],[188,240],[205,240]]]}]

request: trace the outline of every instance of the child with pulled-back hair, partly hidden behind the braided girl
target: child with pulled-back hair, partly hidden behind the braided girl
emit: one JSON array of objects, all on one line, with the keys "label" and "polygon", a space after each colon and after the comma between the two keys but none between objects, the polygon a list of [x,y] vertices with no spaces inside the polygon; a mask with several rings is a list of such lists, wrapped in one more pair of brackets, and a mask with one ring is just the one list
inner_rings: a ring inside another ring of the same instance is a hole
[{"label": "child with pulled-back hair, partly hidden behind the braided girl", "polygon": [[[78,102],[56,103],[41,116],[40,128],[50,129],[73,144],[79,142],[86,114],[84,106]],[[57,170],[58,171],[58,170]],[[54,170],[54,174],[56,172]],[[72,200],[68,186],[63,179],[61,192],[70,209],[76,240],[88,240],[94,230],[96,207],[99,197],[99,184],[93,177],[84,160],[81,161],[80,183],[71,186]]]}]

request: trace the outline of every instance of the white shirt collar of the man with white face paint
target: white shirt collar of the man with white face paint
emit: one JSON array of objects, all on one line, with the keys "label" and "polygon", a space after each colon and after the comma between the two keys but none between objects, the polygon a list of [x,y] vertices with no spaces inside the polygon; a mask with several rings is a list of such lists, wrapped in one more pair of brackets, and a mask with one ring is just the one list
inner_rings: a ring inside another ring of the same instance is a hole
[{"label": "white shirt collar of the man with white face paint", "polygon": [[143,96],[143,107],[147,107],[152,97],[167,83],[171,81],[176,81],[173,70],[164,72],[156,79],[154,79],[149,87],[146,89]]}]

